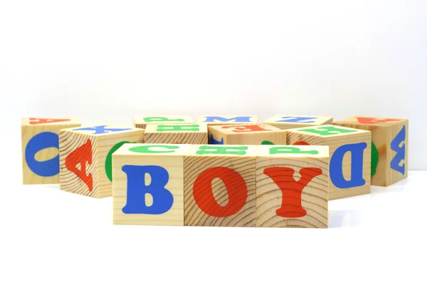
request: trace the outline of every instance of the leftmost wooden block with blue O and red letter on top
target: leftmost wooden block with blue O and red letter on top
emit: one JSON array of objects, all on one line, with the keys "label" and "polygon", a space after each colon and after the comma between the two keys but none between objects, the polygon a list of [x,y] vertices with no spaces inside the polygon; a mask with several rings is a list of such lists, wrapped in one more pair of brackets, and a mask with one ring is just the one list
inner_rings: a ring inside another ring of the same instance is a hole
[{"label": "leftmost wooden block with blue O and red letter on top", "polygon": [[80,126],[78,118],[22,118],[22,180],[29,184],[58,184],[58,132]]}]

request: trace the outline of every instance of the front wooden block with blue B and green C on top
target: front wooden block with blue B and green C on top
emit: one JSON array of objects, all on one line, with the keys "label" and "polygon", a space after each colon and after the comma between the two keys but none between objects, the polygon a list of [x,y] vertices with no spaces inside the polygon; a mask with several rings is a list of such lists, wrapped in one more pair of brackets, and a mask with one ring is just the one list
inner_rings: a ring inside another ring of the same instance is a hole
[{"label": "front wooden block with blue B and green C on top", "polygon": [[127,144],[112,155],[114,224],[184,225],[189,146]]}]

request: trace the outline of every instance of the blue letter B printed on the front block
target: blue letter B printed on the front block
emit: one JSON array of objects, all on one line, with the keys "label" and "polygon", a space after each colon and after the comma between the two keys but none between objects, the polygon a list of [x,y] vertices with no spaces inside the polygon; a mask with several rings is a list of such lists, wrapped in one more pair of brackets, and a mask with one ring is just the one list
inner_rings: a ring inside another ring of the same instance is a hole
[{"label": "blue letter B printed on the front block", "polygon": [[[164,214],[172,208],[174,196],[164,188],[169,181],[169,173],[156,165],[125,165],[127,175],[127,199],[122,211],[125,214]],[[145,174],[151,177],[151,183],[145,185]],[[153,204],[147,206],[145,195],[153,197]]]}]

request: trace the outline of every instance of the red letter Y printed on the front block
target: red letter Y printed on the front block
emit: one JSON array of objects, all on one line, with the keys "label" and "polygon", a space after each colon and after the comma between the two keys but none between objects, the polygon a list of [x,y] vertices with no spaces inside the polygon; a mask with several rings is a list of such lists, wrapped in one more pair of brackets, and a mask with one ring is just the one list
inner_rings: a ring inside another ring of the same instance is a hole
[{"label": "red letter Y printed on the front block", "polygon": [[302,168],[300,180],[295,181],[294,172],[295,170],[289,167],[270,167],[264,170],[264,174],[268,175],[282,190],[282,207],[276,210],[276,214],[280,217],[300,218],[307,214],[301,206],[302,190],[313,177],[322,174],[320,168]]}]

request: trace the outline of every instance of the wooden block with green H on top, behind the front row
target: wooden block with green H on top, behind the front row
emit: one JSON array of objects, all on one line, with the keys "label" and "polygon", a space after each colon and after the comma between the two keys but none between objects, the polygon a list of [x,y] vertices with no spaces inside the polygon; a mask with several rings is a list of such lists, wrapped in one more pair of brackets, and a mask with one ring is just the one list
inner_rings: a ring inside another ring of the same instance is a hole
[{"label": "wooden block with green H on top, behind the front row", "polygon": [[174,124],[174,125],[147,125],[145,129],[146,143],[208,143],[208,127],[205,123]]}]

